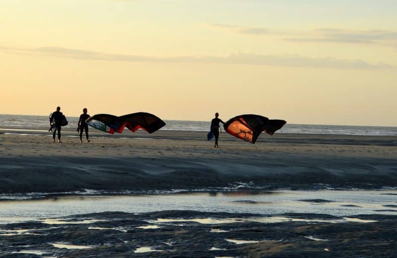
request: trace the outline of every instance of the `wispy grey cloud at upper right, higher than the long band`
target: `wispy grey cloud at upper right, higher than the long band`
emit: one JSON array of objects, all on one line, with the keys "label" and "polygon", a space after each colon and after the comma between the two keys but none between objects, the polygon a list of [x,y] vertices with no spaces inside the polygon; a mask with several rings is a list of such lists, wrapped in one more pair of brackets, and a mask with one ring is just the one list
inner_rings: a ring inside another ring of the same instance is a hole
[{"label": "wispy grey cloud at upper right, higher than the long band", "polygon": [[249,35],[279,35],[283,40],[295,42],[330,42],[376,44],[397,42],[397,32],[389,30],[343,30],[319,28],[310,31],[287,31],[269,28],[253,28],[227,24],[209,24],[212,27]]}]

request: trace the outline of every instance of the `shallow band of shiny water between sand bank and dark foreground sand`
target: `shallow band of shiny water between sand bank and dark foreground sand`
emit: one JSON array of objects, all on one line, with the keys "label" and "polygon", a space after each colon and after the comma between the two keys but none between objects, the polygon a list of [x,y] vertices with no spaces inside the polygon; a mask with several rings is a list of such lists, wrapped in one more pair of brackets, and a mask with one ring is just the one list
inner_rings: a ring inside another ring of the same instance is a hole
[{"label": "shallow band of shiny water between sand bank and dark foreground sand", "polygon": [[[41,220],[47,224],[91,223],[49,219],[104,211],[197,210],[254,214],[322,213],[334,216],[397,212],[396,190],[389,191],[238,191],[141,195],[72,195],[0,201],[0,224]],[[304,201],[302,201],[304,200]],[[385,205],[388,209],[385,209]],[[272,218],[274,220],[274,217]],[[165,222],[165,221],[163,221]],[[199,222],[199,221],[198,221]],[[201,221],[200,221],[201,223]],[[216,220],[208,223],[217,223]],[[5,232],[3,232],[5,233]]]}]

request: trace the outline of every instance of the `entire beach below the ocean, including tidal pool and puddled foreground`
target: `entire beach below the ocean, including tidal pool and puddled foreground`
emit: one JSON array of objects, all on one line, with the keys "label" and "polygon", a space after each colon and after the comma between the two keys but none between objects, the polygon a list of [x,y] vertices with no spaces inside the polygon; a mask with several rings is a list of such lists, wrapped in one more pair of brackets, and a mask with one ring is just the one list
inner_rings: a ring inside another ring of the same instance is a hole
[{"label": "entire beach below the ocean, including tidal pool and puddled foreground", "polygon": [[0,257],[396,256],[397,136],[90,133],[1,129]]}]

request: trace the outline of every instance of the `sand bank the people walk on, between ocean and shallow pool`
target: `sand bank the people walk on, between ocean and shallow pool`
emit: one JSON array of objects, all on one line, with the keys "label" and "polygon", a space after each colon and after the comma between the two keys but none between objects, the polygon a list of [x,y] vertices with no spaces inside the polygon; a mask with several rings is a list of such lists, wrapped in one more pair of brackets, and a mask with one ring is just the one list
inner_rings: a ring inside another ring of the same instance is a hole
[{"label": "sand bank the people walk on, between ocean and shallow pool", "polygon": [[[0,131],[0,192],[84,189],[141,191],[227,187],[378,189],[397,187],[397,136],[262,134],[253,145],[227,133],[219,148],[205,132],[160,130],[110,135],[90,143],[63,131]],[[42,134],[42,135],[30,135]]]}]

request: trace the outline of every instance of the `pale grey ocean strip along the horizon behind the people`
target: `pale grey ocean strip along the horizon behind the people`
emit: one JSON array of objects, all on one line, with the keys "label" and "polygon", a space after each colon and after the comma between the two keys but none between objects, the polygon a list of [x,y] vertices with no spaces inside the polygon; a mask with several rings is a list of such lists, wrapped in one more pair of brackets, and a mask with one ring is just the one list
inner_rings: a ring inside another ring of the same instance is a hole
[{"label": "pale grey ocean strip along the horizon behind the people", "polygon": [[[66,127],[76,128],[78,118],[67,117]],[[167,125],[161,130],[208,131],[209,121],[165,120]],[[49,127],[48,116],[0,115],[0,128],[16,130]],[[343,134],[343,135],[397,135],[397,127],[338,126],[338,125],[299,125],[286,124],[277,133]]]}]

